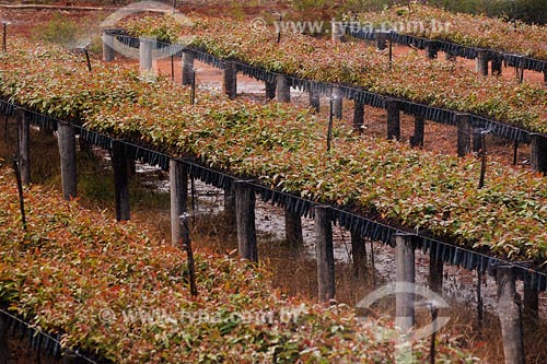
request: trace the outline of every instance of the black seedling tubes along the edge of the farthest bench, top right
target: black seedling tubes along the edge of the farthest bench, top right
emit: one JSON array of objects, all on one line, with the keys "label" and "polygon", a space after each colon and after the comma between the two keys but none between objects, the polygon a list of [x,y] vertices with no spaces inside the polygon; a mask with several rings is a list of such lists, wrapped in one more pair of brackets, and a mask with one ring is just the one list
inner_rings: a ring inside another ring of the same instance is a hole
[{"label": "black seedling tubes along the edge of the farthest bench, top right", "polygon": [[[375,31],[361,30],[359,27],[346,27],[346,34],[359,39],[373,40]],[[440,39],[429,39],[423,37],[417,37],[414,35],[399,34],[396,32],[387,33],[387,39],[392,39],[393,43],[412,46],[419,49],[424,49],[428,46],[433,46],[437,50],[447,52],[452,56],[457,56],[467,59],[477,58],[480,51],[487,51],[490,57],[501,59],[507,62],[510,67],[519,67],[526,70],[532,70],[536,72],[543,72],[547,70],[547,61],[527,57],[524,55],[509,54],[501,50],[493,50],[491,48],[477,48],[477,47],[466,47],[458,45],[456,43],[440,40]]]}]

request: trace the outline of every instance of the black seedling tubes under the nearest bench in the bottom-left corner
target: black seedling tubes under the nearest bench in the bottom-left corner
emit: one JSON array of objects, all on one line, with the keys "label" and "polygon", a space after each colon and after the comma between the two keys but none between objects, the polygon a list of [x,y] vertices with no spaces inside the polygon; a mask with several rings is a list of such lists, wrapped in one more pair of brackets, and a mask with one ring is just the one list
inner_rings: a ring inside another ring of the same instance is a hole
[{"label": "black seedling tubes under the nearest bench in the bottom-left corner", "polygon": [[[0,309],[0,316],[2,320],[7,324],[7,333],[20,341],[26,341],[28,347],[36,352],[42,352],[50,357],[60,357],[62,354],[61,347],[61,334],[55,333],[50,334],[37,329],[35,326],[27,324],[25,320],[18,318],[16,316]],[[85,361],[86,363],[97,364],[96,361],[91,360],[85,354],[75,350],[72,352],[79,359]],[[101,361],[101,363],[108,363]]]}]

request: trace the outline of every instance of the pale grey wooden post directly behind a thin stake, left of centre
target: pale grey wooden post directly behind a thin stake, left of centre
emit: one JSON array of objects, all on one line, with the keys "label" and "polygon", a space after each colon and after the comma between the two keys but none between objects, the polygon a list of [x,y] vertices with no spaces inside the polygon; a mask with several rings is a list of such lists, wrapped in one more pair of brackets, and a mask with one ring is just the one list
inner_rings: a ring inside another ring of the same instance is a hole
[{"label": "pale grey wooden post directly behind a thin stake, left of centre", "polygon": [[183,161],[170,160],[171,245],[181,247],[183,230],[181,216],[187,212],[188,167]]}]

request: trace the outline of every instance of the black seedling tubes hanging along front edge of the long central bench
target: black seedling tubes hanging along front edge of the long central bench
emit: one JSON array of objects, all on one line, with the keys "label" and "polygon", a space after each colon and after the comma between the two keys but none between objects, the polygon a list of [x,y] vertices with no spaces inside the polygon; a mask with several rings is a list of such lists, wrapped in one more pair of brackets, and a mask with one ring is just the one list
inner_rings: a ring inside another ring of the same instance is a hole
[{"label": "black seedling tubes hanging along front edge of the long central bench", "polygon": [[[3,101],[3,103],[7,102]],[[48,122],[48,125],[54,125],[55,127],[58,122],[63,122],[28,109],[24,110],[26,115],[34,115],[31,118],[32,122],[36,122],[36,120],[46,120],[38,122]],[[103,133],[89,130],[80,125],[73,125],[73,127],[77,128],[81,138],[84,138],[88,142],[102,149],[110,150],[112,142],[116,140]],[[129,157],[139,160],[149,165],[159,165],[164,171],[168,171],[168,164],[172,156],[163,152],[138,145],[131,141],[118,141],[124,143],[124,145],[126,146],[125,151]],[[189,166],[189,173],[191,176],[217,188],[231,188],[233,186],[233,181],[235,179],[238,179],[234,176],[229,175],[228,173],[219,172],[211,167],[203,166],[199,162],[193,162],[188,160],[183,160],[183,162]],[[272,204],[287,207],[290,211],[298,213],[301,216],[313,218],[314,215],[313,208],[317,206],[317,202],[303,199],[291,193],[279,191],[256,183],[247,181],[247,185],[249,185],[256,193],[259,193],[263,201],[265,202],[271,201]],[[392,244],[393,235],[399,232],[393,226],[388,226],[364,216],[357,215],[349,211],[345,211],[341,207],[331,207],[331,210],[334,211],[333,222],[340,224],[340,226],[345,228],[357,232],[362,237],[370,238],[374,242]],[[492,271],[492,268],[497,265],[510,265],[517,268],[517,275],[520,279],[531,282],[531,284],[533,284],[533,286],[536,287],[537,291],[547,291],[547,274],[544,272],[529,269],[514,261],[499,259],[464,247],[439,242],[430,238],[429,236],[423,236],[420,234],[415,235],[421,240],[417,244],[417,247],[421,247],[424,251],[427,251],[428,249],[437,249],[437,257],[449,265],[459,266],[468,270],[479,270],[480,272],[488,271],[490,273]]]}]

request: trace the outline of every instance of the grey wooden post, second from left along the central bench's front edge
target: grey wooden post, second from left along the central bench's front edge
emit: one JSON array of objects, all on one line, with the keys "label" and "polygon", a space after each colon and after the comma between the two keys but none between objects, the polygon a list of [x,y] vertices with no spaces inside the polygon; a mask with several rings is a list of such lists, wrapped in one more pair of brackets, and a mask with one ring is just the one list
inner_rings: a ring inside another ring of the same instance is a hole
[{"label": "grey wooden post, second from left along the central bench's front edge", "polygon": [[77,197],[75,171],[75,136],[74,127],[59,122],[57,126],[57,140],[59,142],[59,154],[61,157],[61,181],[62,197],[70,201]]}]

